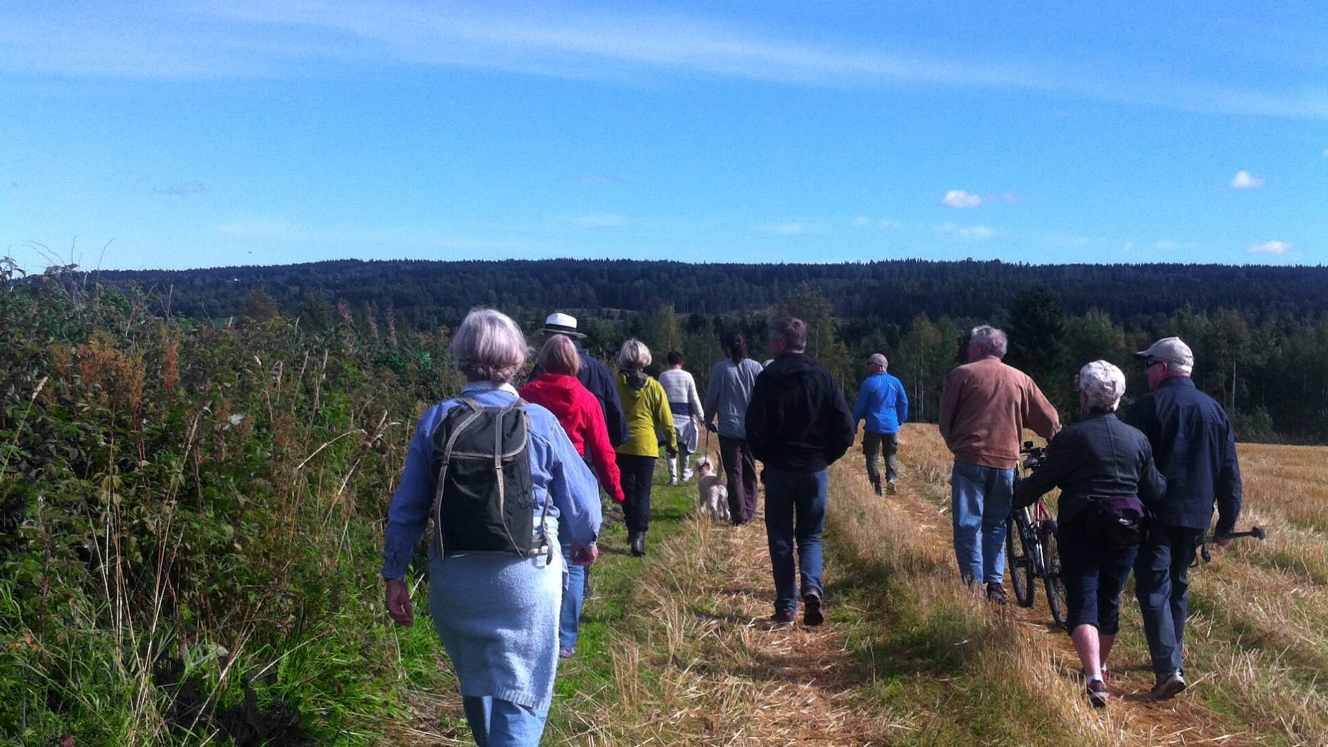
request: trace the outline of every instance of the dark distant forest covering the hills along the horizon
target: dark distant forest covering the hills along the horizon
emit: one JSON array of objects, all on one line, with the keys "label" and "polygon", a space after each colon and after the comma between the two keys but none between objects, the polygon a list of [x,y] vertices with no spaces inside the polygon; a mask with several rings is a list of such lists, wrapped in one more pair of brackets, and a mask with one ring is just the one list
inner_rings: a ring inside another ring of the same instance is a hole
[{"label": "dark distant forest covering the hills along the horizon", "polygon": [[[408,360],[412,335],[446,335],[477,306],[513,315],[537,339],[550,311],[582,318],[587,348],[611,360],[628,336],[663,360],[676,348],[704,387],[737,328],[765,358],[766,326],[791,312],[810,352],[850,400],[871,352],[891,359],[912,417],[934,421],[968,330],[1007,330],[1007,362],[1031,374],[1069,420],[1074,372],[1106,359],[1146,391],[1130,354],[1181,335],[1195,380],[1227,407],[1243,440],[1328,443],[1328,267],[1009,265],[890,261],[843,265],[687,265],[637,261],[335,261],[279,267],[58,272],[145,294],[155,311],[214,324],[299,320],[311,334],[352,326]],[[438,364],[434,362],[434,364]]]}]

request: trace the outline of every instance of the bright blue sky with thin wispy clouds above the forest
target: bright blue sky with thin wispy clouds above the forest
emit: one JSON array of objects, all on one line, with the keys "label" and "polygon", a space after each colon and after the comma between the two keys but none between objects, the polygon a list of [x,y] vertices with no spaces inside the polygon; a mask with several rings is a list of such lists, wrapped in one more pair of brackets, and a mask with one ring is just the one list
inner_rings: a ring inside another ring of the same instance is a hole
[{"label": "bright blue sky with thin wispy clouds above the forest", "polygon": [[1078,5],[5,4],[0,254],[1328,263],[1328,13]]}]

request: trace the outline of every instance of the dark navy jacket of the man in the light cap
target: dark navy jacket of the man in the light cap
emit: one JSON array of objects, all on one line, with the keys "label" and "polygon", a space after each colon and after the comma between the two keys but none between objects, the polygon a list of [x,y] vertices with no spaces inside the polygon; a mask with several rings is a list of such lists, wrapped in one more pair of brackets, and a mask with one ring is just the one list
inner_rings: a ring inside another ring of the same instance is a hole
[{"label": "dark navy jacket of the man in the light cap", "polygon": [[1207,529],[1216,502],[1215,532],[1231,532],[1240,516],[1240,464],[1222,405],[1189,376],[1171,376],[1139,397],[1125,421],[1149,437],[1158,472],[1166,477],[1166,498],[1154,509],[1154,521]]}]

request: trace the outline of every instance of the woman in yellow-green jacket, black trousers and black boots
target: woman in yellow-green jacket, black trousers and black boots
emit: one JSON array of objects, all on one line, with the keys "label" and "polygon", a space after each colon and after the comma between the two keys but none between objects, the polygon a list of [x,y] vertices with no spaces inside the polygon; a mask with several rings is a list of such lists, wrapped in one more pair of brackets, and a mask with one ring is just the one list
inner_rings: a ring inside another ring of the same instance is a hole
[{"label": "woman in yellow-green jacket, black trousers and black boots", "polygon": [[618,447],[618,471],[623,477],[623,516],[627,542],[636,557],[645,554],[645,530],[651,524],[651,480],[660,456],[657,433],[664,433],[668,455],[677,453],[673,413],[659,381],[643,371],[651,364],[651,348],[641,340],[627,340],[618,352],[618,399],[623,403],[628,436]]}]

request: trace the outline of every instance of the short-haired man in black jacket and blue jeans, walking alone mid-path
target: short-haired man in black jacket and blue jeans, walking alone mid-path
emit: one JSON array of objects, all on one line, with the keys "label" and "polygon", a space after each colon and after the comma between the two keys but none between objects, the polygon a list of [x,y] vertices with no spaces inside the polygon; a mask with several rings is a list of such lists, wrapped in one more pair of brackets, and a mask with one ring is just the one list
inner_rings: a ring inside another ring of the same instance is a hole
[{"label": "short-haired man in black jacket and blue jeans, walking alone mid-path", "polygon": [[826,468],[853,445],[853,413],[829,371],[803,352],[807,327],[782,318],[770,324],[774,362],[756,377],[746,411],[752,453],[765,469],[765,532],[774,572],[776,623],[797,610],[793,546],[797,542],[803,625],[825,621],[821,529],[826,517]]}]

